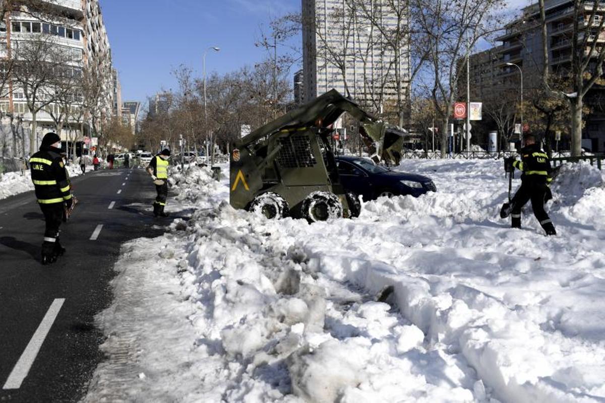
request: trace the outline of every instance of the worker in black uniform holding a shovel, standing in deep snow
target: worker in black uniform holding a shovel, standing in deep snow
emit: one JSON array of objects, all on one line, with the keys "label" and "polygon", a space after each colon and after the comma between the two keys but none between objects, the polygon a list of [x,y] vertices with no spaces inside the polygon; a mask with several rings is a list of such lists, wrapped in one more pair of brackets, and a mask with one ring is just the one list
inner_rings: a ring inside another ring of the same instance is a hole
[{"label": "worker in black uniform holding a shovel, standing in deep snow", "polygon": [[521,160],[508,159],[509,166],[512,165],[520,170],[522,175],[521,187],[512,198],[509,211],[505,213],[511,214],[512,228],[521,228],[521,209],[531,200],[535,218],[546,231],[546,235],[556,235],[555,226],[544,208],[546,202],[552,199],[549,189],[552,169],[548,155],[540,148],[534,135],[528,135],[525,137],[525,147],[521,149],[521,156]]}]

